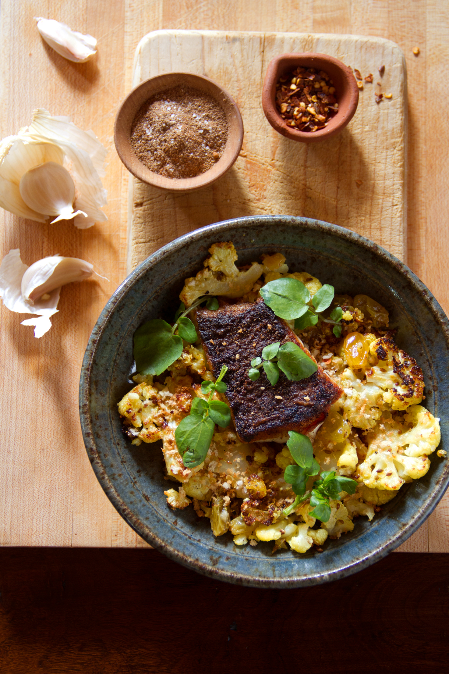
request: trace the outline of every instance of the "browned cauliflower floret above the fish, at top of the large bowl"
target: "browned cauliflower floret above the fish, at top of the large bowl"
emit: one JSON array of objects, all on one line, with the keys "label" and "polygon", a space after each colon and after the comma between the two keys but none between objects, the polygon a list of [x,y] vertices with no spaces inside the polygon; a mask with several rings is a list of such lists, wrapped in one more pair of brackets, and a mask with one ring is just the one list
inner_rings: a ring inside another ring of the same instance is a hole
[{"label": "browned cauliflower floret above the fish, at top of the large bowl", "polygon": [[190,307],[202,295],[242,297],[263,273],[263,266],[252,262],[249,269],[236,267],[237,252],[232,243],[214,243],[209,248],[210,257],[204,261],[204,269],[195,278],[186,278],[180,300]]}]

